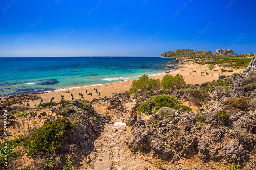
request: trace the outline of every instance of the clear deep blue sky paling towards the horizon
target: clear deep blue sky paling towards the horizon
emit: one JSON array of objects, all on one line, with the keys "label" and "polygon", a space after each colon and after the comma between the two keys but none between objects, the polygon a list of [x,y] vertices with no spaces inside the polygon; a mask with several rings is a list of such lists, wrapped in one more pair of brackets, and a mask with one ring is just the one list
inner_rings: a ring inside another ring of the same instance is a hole
[{"label": "clear deep blue sky paling towards the horizon", "polygon": [[3,0],[0,57],[160,56],[181,48],[256,53],[255,5],[241,0]]}]

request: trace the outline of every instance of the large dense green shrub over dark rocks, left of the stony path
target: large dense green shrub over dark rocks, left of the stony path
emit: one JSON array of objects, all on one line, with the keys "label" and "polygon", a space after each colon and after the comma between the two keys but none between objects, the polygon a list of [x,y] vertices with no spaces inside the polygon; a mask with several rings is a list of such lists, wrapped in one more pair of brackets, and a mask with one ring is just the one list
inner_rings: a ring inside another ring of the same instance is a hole
[{"label": "large dense green shrub over dark rocks, left of the stony path", "polygon": [[67,120],[67,117],[56,119],[35,130],[28,140],[24,142],[24,145],[27,147],[35,145],[35,152],[54,152],[55,149],[60,147],[65,130],[73,131],[76,126],[77,123],[72,124]]}]

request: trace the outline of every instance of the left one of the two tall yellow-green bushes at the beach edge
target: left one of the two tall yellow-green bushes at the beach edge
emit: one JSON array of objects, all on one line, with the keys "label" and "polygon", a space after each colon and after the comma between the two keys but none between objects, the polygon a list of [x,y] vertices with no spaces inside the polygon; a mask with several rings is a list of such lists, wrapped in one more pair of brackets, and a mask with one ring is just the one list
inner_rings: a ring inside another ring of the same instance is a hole
[{"label": "left one of the two tall yellow-green bushes at the beach edge", "polygon": [[151,90],[154,88],[160,87],[160,79],[150,79],[148,75],[144,74],[142,75],[138,80],[132,81],[132,88],[130,91],[134,90]]}]

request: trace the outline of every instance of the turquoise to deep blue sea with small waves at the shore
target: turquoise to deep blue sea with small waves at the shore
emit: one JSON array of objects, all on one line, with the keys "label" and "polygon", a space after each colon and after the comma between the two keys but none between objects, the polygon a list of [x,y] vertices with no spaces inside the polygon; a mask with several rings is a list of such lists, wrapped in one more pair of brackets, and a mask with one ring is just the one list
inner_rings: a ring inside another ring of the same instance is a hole
[{"label": "turquoise to deep blue sea with small waves at the shore", "polygon": [[0,58],[0,97],[126,81],[142,74],[160,75],[175,61],[160,57]]}]

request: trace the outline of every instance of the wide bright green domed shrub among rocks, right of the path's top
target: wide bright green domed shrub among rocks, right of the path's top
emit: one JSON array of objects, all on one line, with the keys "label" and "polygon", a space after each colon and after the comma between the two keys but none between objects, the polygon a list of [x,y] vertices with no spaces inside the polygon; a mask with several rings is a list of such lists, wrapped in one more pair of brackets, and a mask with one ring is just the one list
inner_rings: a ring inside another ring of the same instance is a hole
[{"label": "wide bright green domed shrub among rocks, right of the path's top", "polygon": [[143,110],[148,110],[148,104],[151,102],[156,103],[155,109],[158,111],[162,107],[174,107],[176,104],[180,104],[180,102],[174,97],[168,95],[157,95],[150,97],[146,102],[141,103],[141,106],[138,108],[139,112]]}]

